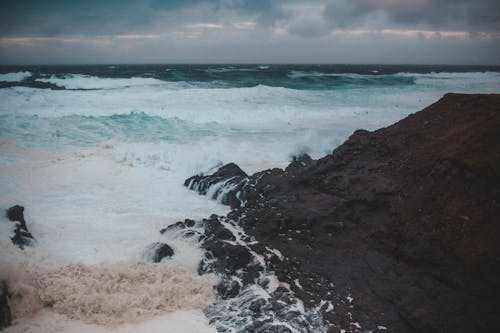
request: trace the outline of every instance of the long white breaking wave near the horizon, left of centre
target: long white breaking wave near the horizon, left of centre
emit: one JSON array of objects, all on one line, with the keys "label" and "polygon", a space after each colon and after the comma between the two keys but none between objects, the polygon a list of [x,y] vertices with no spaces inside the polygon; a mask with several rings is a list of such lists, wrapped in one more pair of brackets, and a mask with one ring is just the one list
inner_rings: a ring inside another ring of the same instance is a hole
[{"label": "long white breaking wave near the horizon, left of centre", "polygon": [[67,74],[64,76],[52,75],[49,78],[36,79],[38,82],[52,83],[66,89],[118,89],[134,86],[151,86],[165,84],[155,78],[102,78],[90,75]]}]

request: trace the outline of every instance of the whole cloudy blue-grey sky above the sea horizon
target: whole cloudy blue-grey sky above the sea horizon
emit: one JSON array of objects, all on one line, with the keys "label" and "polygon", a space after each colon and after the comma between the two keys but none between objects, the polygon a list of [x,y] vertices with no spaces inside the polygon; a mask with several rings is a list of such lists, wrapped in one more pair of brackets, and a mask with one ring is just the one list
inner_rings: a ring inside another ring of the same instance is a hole
[{"label": "whole cloudy blue-grey sky above the sea horizon", "polygon": [[0,64],[500,64],[499,0],[0,0]]}]

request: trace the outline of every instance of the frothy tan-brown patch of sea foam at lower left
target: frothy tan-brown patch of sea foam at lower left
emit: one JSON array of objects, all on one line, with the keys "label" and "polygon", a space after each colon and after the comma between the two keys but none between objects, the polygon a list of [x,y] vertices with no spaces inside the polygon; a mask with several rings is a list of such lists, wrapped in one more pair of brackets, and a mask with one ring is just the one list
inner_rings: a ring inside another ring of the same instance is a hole
[{"label": "frothy tan-brown patch of sea foam at lower left", "polygon": [[213,276],[198,276],[175,264],[75,263],[14,272],[15,278],[7,279],[14,322],[50,307],[86,323],[118,325],[180,309],[202,310],[215,300]]}]

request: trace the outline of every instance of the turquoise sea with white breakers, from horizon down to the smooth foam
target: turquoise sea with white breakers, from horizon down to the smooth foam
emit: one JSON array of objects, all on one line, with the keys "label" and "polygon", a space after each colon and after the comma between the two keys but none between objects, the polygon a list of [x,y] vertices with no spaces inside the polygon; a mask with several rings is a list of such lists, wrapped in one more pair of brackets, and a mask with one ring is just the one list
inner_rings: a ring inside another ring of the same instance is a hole
[{"label": "turquoise sea with white breakers, from horizon down to the smooth foam", "polygon": [[320,157],[352,131],[389,125],[446,92],[500,91],[496,67],[25,66],[0,73],[0,140],[52,150],[203,146],[224,161],[234,158],[226,150],[234,143],[257,162]]}]

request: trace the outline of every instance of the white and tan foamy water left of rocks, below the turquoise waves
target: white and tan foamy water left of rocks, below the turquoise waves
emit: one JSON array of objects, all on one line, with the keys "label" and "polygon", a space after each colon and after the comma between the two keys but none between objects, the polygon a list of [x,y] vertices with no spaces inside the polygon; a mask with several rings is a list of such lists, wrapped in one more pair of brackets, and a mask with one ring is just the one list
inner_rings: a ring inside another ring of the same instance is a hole
[{"label": "white and tan foamy water left of rocks, below the turquoise waves", "polygon": [[[176,331],[212,331],[199,320],[215,299],[215,278],[196,271],[201,250],[165,239],[159,230],[185,218],[186,211],[201,218],[227,208],[190,193],[180,185],[182,178],[160,168],[145,172],[147,166],[134,166],[113,150],[108,145],[53,153],[0,145],[2,206],[23,204],[37,239],[35,248],[13,248],[5,237],[12,222],[2,217],[0,279],[14,293],[16,323],[8,332],[36,331],[33,316],[35,322],[47,321],[37,316],[47,307],[46,316],[67,317],[57,327],[49,320],[47,332],[73,332],[82,323],[120,331],[130,324],[131,331],[141,331],[141,322],[178,311],[192,319],[181,321]],[[174,257],[160,264],[141,262],[154,241],[168,242]]]}]

